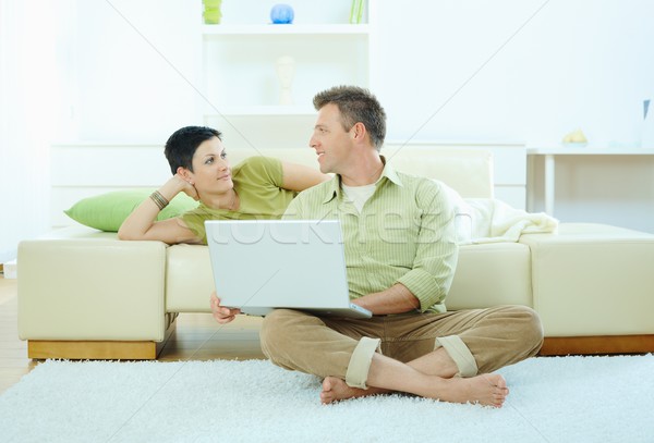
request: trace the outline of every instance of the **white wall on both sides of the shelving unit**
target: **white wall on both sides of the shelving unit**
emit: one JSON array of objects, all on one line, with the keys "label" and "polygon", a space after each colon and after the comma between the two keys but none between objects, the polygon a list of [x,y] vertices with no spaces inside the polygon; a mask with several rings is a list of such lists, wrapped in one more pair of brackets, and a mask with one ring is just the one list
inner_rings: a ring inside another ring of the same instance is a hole
[{"label": "white wall on both sides of the shelving unit", "polygon": [[[237,1],[258,21],[274,3],[223,0],[225,22]],[[651,1],[374,1],[371,86],[389,138],[542,145],[581,127],[598,146],[640,143],[654,95]],[[80,139],[160,140],[198,115],[199,0],[76,4]]]}]

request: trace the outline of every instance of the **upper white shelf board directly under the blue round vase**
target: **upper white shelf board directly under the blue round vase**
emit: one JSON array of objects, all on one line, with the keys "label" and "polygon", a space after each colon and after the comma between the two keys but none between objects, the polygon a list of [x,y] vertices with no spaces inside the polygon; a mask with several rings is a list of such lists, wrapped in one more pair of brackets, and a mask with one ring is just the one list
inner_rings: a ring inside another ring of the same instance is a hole
[{"label": "upper white shelf board directly under the blue round vase", "polygon": [[368,25],[203,25],[205,38],[246,35],[367,35]]}]

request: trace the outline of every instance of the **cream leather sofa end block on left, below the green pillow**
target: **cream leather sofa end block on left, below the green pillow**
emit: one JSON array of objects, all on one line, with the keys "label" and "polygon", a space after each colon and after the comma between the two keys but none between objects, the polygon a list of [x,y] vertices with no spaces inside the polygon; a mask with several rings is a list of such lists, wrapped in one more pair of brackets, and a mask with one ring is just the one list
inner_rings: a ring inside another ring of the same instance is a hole
[{"label": "cream leather sofa end block on left, below the green pillow", "polygon": [[166,244],[109,236],[19,245],[22,340],[162,341]]}]

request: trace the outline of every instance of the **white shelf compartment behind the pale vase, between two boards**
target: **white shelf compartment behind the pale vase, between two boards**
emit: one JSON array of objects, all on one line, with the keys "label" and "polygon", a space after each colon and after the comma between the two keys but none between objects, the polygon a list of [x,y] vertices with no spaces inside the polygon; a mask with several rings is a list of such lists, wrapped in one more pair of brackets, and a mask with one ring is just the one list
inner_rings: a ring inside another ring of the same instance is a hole
[{"label": "white shelf compartment behind the pale vase, between two boards", "polygon": [[[325,85],[367,85],[368,25],[203,25],[205,114],[315,116]],[[277,60],[295,61],[294,107],[277,107]]]}]

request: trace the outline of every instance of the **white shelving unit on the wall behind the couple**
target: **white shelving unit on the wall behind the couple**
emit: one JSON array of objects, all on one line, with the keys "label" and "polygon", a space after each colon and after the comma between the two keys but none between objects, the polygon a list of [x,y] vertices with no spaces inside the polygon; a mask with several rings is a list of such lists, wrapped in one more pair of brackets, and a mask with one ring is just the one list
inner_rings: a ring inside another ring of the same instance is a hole
[{"label": "white shelving unit on the wall behind the couple", "polygon": [[[340,12],[325,17],[296,11],[296,24],[247,23],[257,19],[243,12],[232,14],[232,23],[202,26],[204,123],[222,132],[228,149],[305,148],[316,93],[341,84],[370,86],[368,14],[365,23],[349,24],[350,3],[330,4]],[[279,99],[276,62],[283,56],[294,60],[291,104]]]}]

